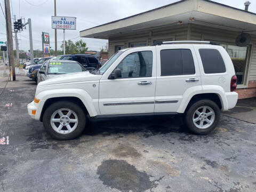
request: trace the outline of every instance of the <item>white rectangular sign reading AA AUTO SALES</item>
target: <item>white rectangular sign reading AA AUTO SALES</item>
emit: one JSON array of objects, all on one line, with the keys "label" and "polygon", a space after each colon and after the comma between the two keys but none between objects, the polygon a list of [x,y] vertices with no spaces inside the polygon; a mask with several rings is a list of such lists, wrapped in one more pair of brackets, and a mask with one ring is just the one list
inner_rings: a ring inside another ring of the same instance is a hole
[{"label": "white rectangular sign reading AA AUTO SALES", "polygon": [[52,29],[76,30],[76,18],[52,16]]}]

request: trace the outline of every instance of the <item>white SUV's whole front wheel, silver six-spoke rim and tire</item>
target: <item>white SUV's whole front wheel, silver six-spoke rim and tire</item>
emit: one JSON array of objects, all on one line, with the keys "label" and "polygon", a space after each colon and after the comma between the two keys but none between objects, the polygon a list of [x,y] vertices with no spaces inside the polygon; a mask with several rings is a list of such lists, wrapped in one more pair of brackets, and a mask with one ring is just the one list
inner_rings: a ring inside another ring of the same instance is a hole
[{"label": "white SUV's whole front wheel, silver six-spoke rim and tire", "polygon": [[76,103],[58,101],[45,110],[43,124],[54,139],[74,139],[84,130],[86,115]]}]

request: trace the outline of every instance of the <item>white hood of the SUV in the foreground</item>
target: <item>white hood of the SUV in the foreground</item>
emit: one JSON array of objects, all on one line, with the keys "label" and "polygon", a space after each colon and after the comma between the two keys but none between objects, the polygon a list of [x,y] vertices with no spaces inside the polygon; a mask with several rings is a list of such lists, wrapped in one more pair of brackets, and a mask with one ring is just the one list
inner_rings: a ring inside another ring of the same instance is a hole
[{"label": "white hood of the SUV in the foreground", "polygon": [[72,83],[72,82],[83,82],[83,81],[97,81],[101,78],[101,75],[93,75],[89,71],[71,73],[64,75],[51,76],[43,82],[40,82],[37,86],[60,84],[60,83]]}]

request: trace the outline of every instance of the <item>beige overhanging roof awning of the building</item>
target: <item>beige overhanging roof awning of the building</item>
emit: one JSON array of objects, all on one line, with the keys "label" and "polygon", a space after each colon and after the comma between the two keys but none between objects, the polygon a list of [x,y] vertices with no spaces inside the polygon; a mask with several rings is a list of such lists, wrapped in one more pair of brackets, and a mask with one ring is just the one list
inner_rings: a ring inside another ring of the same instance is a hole
[{"label": "beige overhanging roof awning of the building", "polygon": [[182,0],[80,31],[80,37],[109,39],[157,28],[196,24],[256,35],[256,14],[209,0]]}]

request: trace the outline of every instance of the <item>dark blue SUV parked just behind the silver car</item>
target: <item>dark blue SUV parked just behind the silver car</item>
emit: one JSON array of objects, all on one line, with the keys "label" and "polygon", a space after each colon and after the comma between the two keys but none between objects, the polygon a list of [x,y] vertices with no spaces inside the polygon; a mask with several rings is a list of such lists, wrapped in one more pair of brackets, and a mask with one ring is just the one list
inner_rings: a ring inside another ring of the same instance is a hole
[{"label": "dark blue SUV parked just behind the silver car", "polygon": [[77,61],[87,70],[97,68],[99,63],[99,60],[94,55],[82,53],[60,55],[58,59]]}]

